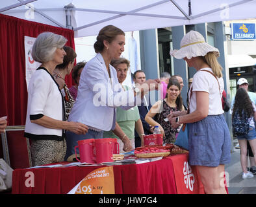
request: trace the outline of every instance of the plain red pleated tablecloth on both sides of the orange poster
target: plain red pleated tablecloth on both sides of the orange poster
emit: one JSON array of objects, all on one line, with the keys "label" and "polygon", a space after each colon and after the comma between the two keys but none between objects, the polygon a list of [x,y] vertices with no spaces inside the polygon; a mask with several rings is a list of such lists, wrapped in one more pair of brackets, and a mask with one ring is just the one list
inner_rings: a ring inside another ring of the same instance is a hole
[{"label": "plain red pleated tablecloth on both sides of the orange poster", "polygon": [[[115,193],[176,194],[172,162],[170,158],[163,158],[144,164],[113,166]],[[68,193],[88,173],[101,167],[15,169],[12,174],[12,193]]]}]

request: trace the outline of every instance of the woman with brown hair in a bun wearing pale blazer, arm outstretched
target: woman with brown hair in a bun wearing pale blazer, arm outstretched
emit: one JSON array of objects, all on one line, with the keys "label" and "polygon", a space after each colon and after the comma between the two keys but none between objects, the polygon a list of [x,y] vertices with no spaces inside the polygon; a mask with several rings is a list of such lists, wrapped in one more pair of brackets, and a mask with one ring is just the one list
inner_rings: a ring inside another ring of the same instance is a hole
[{"label": "woman with brown hair in a bun wearing pale blazer, arm outstretched", "polygon": [[134,89],[122,90],[118,82],[116,69],[110,65],[113,59],[119,59],[124,51],[125,33],[113,25],[103,27],[94,43],[97,53],[86,63],[80,77],[77,100],[73,105],[68,120],[88,125],[84,136],[68,133],[73,144],[67,155],[74,153],[77,140],[86,138],[103,138],[103,131],[113,130],[123,141],[123,150],[132,149],[131,142],[116,125],[116,107],[125,110],[140,104],[144,93],[157,89],[159,80],[147,80],[146,87],[137,85]]}]

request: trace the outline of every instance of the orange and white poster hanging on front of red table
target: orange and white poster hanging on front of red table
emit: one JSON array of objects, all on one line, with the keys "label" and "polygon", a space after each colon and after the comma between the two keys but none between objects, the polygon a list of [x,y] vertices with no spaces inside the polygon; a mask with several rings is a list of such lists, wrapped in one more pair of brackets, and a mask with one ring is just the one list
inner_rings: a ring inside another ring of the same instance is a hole
[{"label": "orange and white poster hanging on front of red table", "polygon": [[[83,168],[83,167],[81,167]],[[114,171],[113,166],[97,168],[68,194],[114,194]]]}]

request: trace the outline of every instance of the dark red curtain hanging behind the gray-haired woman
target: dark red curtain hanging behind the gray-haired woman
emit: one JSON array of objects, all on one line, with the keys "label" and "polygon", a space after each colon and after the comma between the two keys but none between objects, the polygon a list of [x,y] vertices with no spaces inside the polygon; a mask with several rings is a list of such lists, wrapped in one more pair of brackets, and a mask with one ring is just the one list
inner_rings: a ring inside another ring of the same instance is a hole
[{"label": "dark red curtain hanging behind the gray-haired woman", "polygon": [[[36,38],[42,32],[54,32],[68,39],[66,45],[75,49],[74,32],[0,14],[0,117],[8,116],[8,125],[25,125],[27,113],[27,84],[25,80],[24,36]],[[68,87],[72,78],[66,77]],[[8,140],[8,147],[15,147],[25,138]],[[0,157],[1,157],[0,148]],[[12,150],[11,150],[12,151]],[[21,156],[21,151],[17,156]],[[12,162],[12,160],[11,160]]]}]

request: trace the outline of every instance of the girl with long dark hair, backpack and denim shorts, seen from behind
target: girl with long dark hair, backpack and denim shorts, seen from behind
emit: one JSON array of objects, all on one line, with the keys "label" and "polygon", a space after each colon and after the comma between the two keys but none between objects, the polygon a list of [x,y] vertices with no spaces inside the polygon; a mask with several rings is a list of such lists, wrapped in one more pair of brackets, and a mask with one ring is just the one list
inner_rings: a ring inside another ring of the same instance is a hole
[{"label": "girl with long dark hair, backpack and denim shorts, seen from behind", "polygon": [[[242,166],[242,179],[248,179],[253,177],[253,173],[247,170],[247,141],[249,142],[251,149],[253,151],[254,159],[256,162],[256,133],[254,120],[256,118],[256,107],[255,104],[251,102],[247,91],[244,88],[239,88],[235,96],[235,103],[233,106],[232,122],[233,124],[240,118],[245,118],[249,123],[248,134],[237,135],[237,139],[240,145],[240,162]],[[254,119],[253,119],[254,118]],[[233,128],[235,125],[233,125]]]}]

